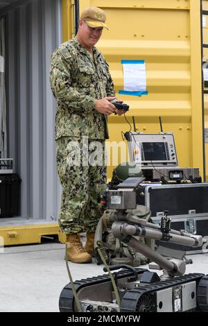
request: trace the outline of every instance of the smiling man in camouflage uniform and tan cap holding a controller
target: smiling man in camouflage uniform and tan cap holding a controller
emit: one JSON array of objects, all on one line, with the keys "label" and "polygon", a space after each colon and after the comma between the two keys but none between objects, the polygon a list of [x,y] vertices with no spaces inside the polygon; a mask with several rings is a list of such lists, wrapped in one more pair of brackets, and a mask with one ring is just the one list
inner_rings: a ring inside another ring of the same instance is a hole
[{"label": "smiling man in camouflage uniform and tan cap holding a controller", "polygon": [[[51,89],[58,101],[55,139],[62,185],[59,223],[67,234],[67,259],[76,263],[92,260],[94,232],[101,217],[99,200],[106,185],[107,116],[123,113],[110,103],[115,98],[114,85],[105,58],[94,47],[103,27],[107,28],[105,12],[86,8],[76,37],[58,46],[51,56]],[[100,145],[97,165],[88,160],[94,144]],[[87,232],[85,248],[79,235],[83,230]]]}]

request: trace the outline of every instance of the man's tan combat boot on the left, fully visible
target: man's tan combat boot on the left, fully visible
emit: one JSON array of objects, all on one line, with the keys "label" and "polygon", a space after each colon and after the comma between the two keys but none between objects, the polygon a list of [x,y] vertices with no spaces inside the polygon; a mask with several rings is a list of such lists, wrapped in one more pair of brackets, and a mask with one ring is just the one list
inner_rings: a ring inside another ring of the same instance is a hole
[{"label": "man's tan combat boot on the left, fully visible", "polygon": [[83,248],[79,234],[67,235],[67,260],[78,264],[92,261],[92,257]]}]

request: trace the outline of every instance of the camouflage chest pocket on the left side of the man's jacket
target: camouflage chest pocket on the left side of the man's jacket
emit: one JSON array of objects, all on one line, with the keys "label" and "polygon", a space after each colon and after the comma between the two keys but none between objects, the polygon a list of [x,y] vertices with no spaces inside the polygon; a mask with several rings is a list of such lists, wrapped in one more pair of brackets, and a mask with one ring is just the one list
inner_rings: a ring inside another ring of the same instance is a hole
[{"label": "camouflage chest pocket on the left side of the man's jacket", "polygon": [[78,64],[78,86],[89,87],[94,83],[94,69],[91,65]]}]

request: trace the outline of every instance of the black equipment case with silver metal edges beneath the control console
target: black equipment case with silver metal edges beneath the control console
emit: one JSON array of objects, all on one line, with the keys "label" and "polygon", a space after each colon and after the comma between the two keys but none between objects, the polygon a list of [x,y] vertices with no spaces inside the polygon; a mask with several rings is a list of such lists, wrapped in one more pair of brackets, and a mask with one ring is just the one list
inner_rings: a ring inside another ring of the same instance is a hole
[{"label": "black equipment case with silver metal edges beneath the control console", "polygon": [[[164,211],[171,216],[171,228],[187,230],[208,239],[208,183],[143,184],[138,189],[137,204],[150,208],[153,223],[160,223]],[[190,248],[159,241],[162,246],[186,253],[208,252],[208,243]]]}]

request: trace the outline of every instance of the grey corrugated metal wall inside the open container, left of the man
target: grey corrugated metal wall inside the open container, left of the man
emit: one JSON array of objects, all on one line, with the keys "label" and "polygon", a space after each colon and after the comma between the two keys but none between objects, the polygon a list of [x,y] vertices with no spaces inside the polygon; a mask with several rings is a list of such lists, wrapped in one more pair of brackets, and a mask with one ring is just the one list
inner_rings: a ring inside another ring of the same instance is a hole
[{"label": "grey corrugated metal wall inside the open container, left of the man", "polygon": [[8,155],[22,180],[21,216],[47,221],[57,218],[60,203],[49,67],[62,42],[61,4],[27,1],[6,12]]}]

